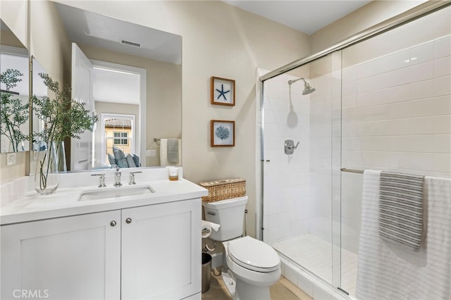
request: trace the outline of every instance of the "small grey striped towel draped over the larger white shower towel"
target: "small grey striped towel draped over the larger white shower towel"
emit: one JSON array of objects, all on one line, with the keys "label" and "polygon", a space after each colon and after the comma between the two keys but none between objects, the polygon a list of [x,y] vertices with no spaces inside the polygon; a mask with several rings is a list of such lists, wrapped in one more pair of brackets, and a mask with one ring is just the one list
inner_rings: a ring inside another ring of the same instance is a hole
[{"label": "small grey striped towel draped over the larger white shower towel", "polygon": [[424,176],[381,172],[379,234],[417,250],[423,230]]}]

